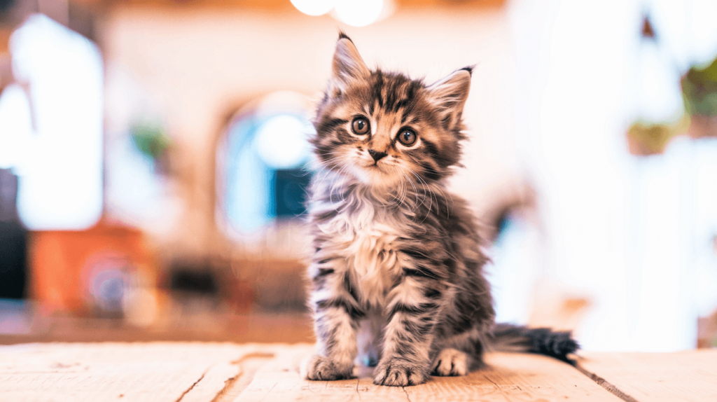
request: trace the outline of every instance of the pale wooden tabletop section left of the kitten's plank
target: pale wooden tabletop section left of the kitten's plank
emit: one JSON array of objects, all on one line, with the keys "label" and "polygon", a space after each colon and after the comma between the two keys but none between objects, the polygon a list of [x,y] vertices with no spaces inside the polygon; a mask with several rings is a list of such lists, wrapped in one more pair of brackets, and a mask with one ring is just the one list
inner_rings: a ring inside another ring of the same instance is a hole
[{"label": "pale wooden tabletop section left of the kitten's plank", "polygon": [[252,346],[75,343],[0,347],[0,401],[212,401]]}]

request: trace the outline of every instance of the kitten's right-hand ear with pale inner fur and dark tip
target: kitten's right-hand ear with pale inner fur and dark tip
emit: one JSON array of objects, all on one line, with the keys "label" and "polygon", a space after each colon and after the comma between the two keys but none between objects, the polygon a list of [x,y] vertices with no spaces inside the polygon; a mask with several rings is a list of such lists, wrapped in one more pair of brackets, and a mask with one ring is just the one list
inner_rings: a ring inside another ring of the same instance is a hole
[{"label": "kitten's right-hand ear with pale inner fur and dark tip", "polygon": [[473,66],[464,67],[426,88],[447,128],[454,127],[460,120],[463,105],[468,99],[471,72]]}]

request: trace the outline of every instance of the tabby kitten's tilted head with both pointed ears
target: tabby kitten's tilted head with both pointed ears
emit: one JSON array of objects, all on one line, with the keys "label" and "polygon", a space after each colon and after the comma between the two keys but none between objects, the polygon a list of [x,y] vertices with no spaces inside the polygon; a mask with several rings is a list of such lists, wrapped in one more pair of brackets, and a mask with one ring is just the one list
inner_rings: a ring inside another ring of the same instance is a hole
[{"label": "tabby kitten's tilted head with both pointed ears", "polygon": [[465,138],[461,113],[472,67],[425,85],[369,70],[340,34],[331,80],[318,106],[314,151],[320,163],[371,186],[430,183],[450,175]]}]

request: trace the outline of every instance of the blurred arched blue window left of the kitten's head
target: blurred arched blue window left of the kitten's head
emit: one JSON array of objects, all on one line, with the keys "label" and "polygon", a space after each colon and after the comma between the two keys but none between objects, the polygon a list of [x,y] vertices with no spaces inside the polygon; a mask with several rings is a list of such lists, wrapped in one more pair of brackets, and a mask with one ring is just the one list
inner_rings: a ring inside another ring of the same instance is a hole
[{"label": "blurred arched blue window left of the kitten's head", "polygon": [[233,118],[219,144],[219,226],[251,243],[305,213],[310,171],[304,96],[277,92]]}]

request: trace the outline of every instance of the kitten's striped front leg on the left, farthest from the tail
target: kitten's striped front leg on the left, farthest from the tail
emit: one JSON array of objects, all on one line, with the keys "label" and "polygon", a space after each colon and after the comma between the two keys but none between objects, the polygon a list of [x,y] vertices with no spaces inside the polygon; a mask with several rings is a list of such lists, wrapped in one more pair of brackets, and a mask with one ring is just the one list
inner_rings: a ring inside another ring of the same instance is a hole
[{"label": "kitten's striped front leg on the left, farthest from the tail", "polygon": [[364,310],[356,301],[346,267],[338,259],[323,261],[309,268],[318,355],[302,363],[301,375],[309,380],[350,378],[357,352],[356,330]]}]

